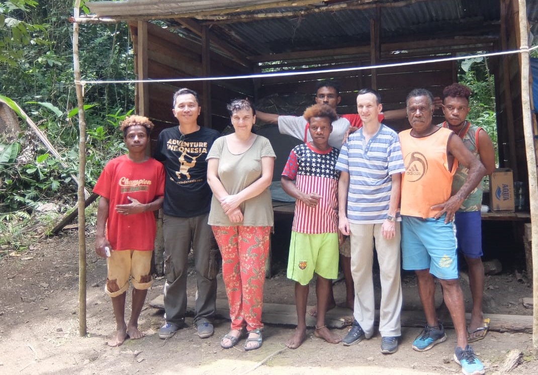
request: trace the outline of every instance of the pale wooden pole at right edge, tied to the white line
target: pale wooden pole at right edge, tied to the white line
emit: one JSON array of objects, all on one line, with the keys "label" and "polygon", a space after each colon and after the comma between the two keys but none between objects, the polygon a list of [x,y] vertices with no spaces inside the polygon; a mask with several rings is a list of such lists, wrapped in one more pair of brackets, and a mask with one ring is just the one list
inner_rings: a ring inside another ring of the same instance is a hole
[{"label": "pale wooden pole at right edge, tied to the white line", "polygon": [[[523,109],[523,133],[527,153],[527,168],[529,175],[530,222],[538,223],[538,186],[536,177],[536,150],[534,149],[533,124],[530,113],[529,94],[529,51],[527,30],[527,5],[525,0],[519,0],[519,34],[521,37],[521,104]],[[538,225],[532,225],[532,254],[533,254],[533,349],[534,358],[538,359]]]}]

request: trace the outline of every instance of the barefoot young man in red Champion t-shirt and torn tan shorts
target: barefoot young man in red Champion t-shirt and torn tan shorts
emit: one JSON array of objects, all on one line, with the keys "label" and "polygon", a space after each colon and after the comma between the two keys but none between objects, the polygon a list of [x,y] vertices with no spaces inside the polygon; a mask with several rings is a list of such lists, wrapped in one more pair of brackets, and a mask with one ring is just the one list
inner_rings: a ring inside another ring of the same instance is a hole
[{"label": "barefoot young man in red Champion t-shirt and torn tan shorts", "polygon": [[[138,317],[152,284],[150,273],[155,216],[162,206],[165,171],[157,160],[146,156],[153,123],[143,116],[127,117],[119,129],[129,153],[112,159],[97,180],[94,193],[101,195],[97,209],[95,252],[107,258],[104,288],[112,299],[116,332],[109,346],[145,334],[138,330]],[[105,229],[106,227],[106,229]],[[125,295],[133,285],[131,318],[125,324]]]}]

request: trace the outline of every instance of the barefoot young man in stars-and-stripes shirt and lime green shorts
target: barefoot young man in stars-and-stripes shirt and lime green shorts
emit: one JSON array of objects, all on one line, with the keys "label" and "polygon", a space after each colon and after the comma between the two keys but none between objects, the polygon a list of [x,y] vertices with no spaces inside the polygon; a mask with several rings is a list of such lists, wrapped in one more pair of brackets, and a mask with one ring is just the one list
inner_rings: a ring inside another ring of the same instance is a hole
[{"label": "barefoot young man in stars-and-stripes shirt and lime green shorts", "polygon": [[295,146],[284,171],[282,188],[296,199],[289,245],[288,278],[295,281],[297,329],[286,346],[296,349],[306,339],[308,284],[317,274],[317,321],[314,336],[331,344],[341,337],[325,326],[325,312],[331,279],[338,274],[337,189],[339,172],[335,169],[338,149],[329,145],[331,123],[337,118],[329,105],[314,104],[303,115],[310,123],[311,141]]}]

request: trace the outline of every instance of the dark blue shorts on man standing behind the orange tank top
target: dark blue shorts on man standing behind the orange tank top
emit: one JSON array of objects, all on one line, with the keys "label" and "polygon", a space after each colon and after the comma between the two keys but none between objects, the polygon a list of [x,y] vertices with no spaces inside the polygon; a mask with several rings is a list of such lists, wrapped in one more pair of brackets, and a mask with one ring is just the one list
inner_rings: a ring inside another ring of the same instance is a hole
[{"label": "dark blue shorts on man standing behind the orange tank top", "polygon": [[457,212],[454,220],[458,249],[465,257],[482,257],[482,215],[480,211]]}]

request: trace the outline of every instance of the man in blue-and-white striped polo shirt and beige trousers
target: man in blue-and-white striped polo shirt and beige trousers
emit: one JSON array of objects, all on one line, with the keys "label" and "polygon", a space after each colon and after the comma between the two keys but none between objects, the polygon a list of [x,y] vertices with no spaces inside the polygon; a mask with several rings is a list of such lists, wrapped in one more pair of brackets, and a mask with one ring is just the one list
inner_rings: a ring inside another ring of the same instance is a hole
[{"label": "man in blue-and-white striped polo shirt and beige trousers", "polygon": [[397,133],[379,122],[379,94],[362,89],[357,110],[363,126],[342,146],[336,169],[338,229],[351,234],[351,273],[355,283],[353,325],[342,340],[349,346],[373,335],[373,245],[379,261],[381,352],[398,350],[400,311],[400,201],[401,173],[405,171]]}]

